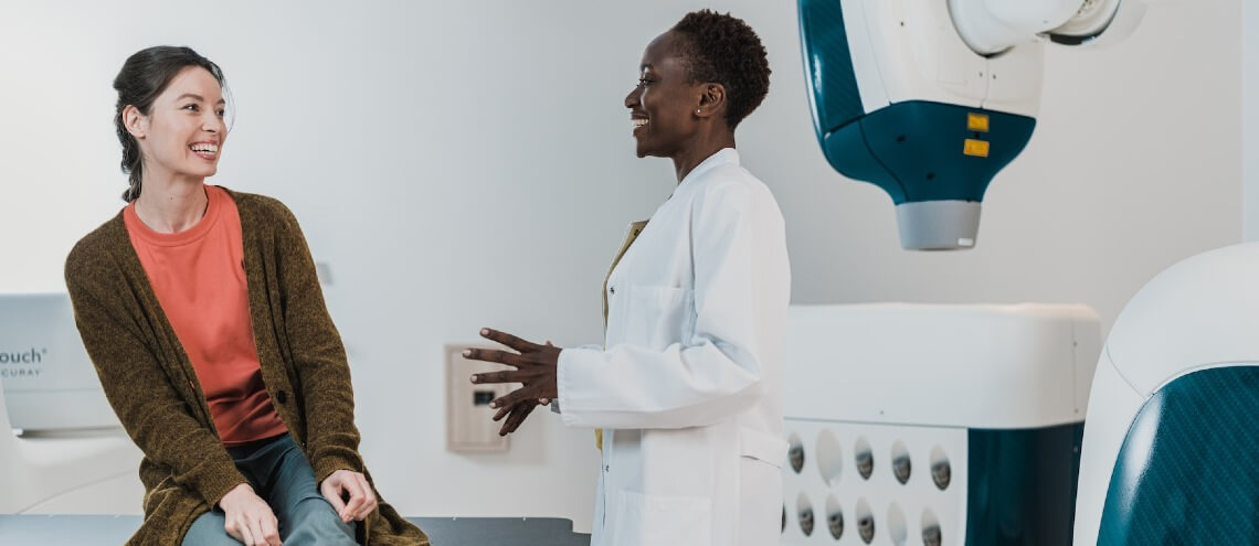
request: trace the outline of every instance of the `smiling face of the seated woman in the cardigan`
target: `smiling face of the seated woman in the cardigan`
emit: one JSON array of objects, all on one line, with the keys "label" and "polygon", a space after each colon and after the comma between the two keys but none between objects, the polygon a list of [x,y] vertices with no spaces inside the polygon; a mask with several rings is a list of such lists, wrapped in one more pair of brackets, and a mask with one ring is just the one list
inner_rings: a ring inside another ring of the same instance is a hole
[{"label": "smiling face of the seated woman in the cardigan", "polygon": [[189,67],[157,96],[147,116],[130,116],[145,176],[204,179],[218,171],[227,140],[223,88],[208,70]]}]

